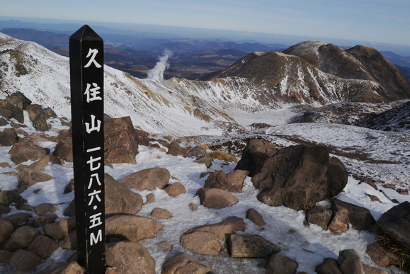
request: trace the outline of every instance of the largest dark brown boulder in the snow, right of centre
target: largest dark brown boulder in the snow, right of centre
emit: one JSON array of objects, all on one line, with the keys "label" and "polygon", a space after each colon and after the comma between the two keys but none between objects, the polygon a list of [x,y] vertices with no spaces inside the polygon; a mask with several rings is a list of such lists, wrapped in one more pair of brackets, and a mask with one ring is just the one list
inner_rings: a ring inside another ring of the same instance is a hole
[{"label": "largest dark brown boulder in the snow, right of centre", "polygon": [[280,149],[266,159],[252,183],[261,190],[257,196],[261,202],[304,210],[340,193],[347,179],[345,166],[331,158],[326,147],[301,144]]}]

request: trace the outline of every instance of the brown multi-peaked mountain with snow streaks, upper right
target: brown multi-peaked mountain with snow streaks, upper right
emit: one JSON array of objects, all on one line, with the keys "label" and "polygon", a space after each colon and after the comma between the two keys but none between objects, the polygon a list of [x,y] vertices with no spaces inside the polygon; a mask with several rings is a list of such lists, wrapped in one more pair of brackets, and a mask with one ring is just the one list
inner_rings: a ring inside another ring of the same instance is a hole
[{"label": "brown multi-peaked mountain with snow streaks, upper right", "polygon": [[254,52],[205,80],[239,76],[292,103],[381,103],[410,98],[410,83],[380,52],[307,41],[283,52]]}]

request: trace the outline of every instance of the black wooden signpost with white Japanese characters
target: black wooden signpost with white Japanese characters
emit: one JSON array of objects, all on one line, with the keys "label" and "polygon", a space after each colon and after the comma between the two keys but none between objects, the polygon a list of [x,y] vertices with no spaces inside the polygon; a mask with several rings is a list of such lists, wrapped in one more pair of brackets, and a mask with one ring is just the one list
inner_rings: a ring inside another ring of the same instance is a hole
[{"label": "black wooden signpost with white Japanese characters", "polygon": [[78,262],[105,273],[103,40],[84,25],[69,38]]}]

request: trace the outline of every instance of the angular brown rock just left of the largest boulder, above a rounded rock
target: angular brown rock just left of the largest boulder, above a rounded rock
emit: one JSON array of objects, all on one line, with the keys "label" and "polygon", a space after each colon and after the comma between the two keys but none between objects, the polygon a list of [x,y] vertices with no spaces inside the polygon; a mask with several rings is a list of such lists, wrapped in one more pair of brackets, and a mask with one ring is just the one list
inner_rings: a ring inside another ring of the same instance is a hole
[{"label": "angular brown rock just left of the largest boulder, above a rounded rock", "polygon": [[248,171],[235,170],[225,174],[224,170],[210,173],[204,188],[220,188],[234,193],[242,193],[242,187]]}]

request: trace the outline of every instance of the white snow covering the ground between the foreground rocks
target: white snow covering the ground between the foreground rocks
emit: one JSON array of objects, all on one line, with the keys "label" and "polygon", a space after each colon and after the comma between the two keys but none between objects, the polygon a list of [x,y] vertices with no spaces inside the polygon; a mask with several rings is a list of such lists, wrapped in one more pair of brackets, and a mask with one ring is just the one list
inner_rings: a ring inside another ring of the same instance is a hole
[{"label": "white snow covering the ground between the foreground rocks", "polygon": [[[258,121],[259,122],[259,121]],[[55,125],[58,126],[58,120],[55,120]],[[7,126],[6,126],[7,127]],[[66,127],[67,128],[67,127]],[[4,127],[0,127],[4,130]],[[28,133],[33,132],[29,128],[23,128]],[[377,132],[375,130],[367,130],[351,126],[343,125],[329,125],[329,124],[300,124],[300,125],[280,125],[271,127],[266,130],[258,130],[259,134],[267,135],[281,135],[290,136],[292,139],[303,139],[304,141],[317,142],[326,144],[337,149],[345,149],[346,147],[353,147],[355,149],[369,149],[369,154],[375,159],[387,159],[390,163],[378,164],[371,161],[364,162],[349,157],[339,157],[344,164],[346,164],[349,172],[357,170],[362,175],[367,174],[372,178],[380,178],[385,183],[399,183],[402,187],[409,188],[410,171],[406,164],[409,162],[408,150],[408,134],[399,133],[397,135],[392,132]],[[57,135],[55,132],[47,132],[48,135]],[[380,143],[375,143],[377,137]],[[273,136],[270,136],[273,137]],[[225,137],[229,138],[229,137]],[[273,137],[278,144],[289,145],[287,139]],[[381,143],[382,142],[382,143]],[[193,145],[183,143],[185,145]],[[370,147],[371,145],[371,147]],[[54,142],[43,142],[43,147],[48,147],[53,151],[55,148]],[[6,173],[16,170],[16,164],[10,160],[8,151],[11,147],[0,147],[0,159],[6,161],[11,165],[10,168],[1,169],[0,173]],[[397,157],[397,158],[395,158]],[[397,161],[395,160],[397,159]],[[347,232],[341,234],[332,234],[329,231],[323,231],[321,227],[314,224],[310,228],[304,227],[304,212],[291,210],[287,207],[271,207],[259,202],[256,199],[258,190],[254,188],[251,183],[251,178],[246,178],[244,182],[243,193],[233,193],[239,198],[236,205],[225,207],[220,210],[208,209],[200,205],[199,198],[195,196],[198,188],[203,187],[206,176],[200,178],[200,173],[207,171],[204,164],[196,164],[193,159],[183,158],[181,156],[171,156],[157,149],[149,149],[148,147],[139,146],[139,154],[136,156],[137,164],[113,164],[113,168],[106,166],[106,172],[113,178],[120,179],[130,173],[142,169],[161,167],[168,169],[171,176],[178,178],[178,180],[185,186],[187,193],[171,198],[164,190],[144,190],[139,192],[145,198],[149,193],[154,193],[155,202],[149,205],[144,205],[139,216],[149,217],[150,212],[156,207],[164,208],[172,213],[170,219],[158,219],[164,224],[162,229],[152,239],[145,239],[140,241],[142,245],[147,247],[149,253],[156,261],[156,273],[160,273],[161,266],[171,256],[177,253],[188,253],[198,261],[210,266],[215,273],[264,273],[265,262],[262,259],[238,259],[229,258],[226,250],[222,251],[217,256],[205,256],[191,253],[179,244],[183,232],[188,229],[202,224],[215,224],[222,221],[229,216],[237,216],[244,219],[246,229],[239,234],[259,234],[268,241],[277,244],[284,256],[297,261],[299,268],[297,271],[306,271],[307,273],[314,273],[314,268],[323,261],[323,258],[331,257],[337,258],[338,252],[343,249],[354,249],[360,255],[364,264],[374,266],[373,263],[365,253],[366,246],[375,241],[375,234],[369,232],[360,232],[355,229],[348,229]],[[23,164],[30,164],[28,161]],[[224,169],[226,172],[232,171],[235,164],[226,164],[222,161],[215,161],[210,169]],[[66,162],[63,165],[50,165],[45,169],[45,173],[51,174],[54,178],[47,182],[36,183],[25,190],[21,195],[28,200],[28,204],[35,206],[42,202],[50,202],[57,205],[57,215],[60,218],[64,209],[69,202],[74,198],[74,193],[63,194],[64,188],[73,177],[73,165]],[[389,176],[389,174],[391,176]],[[395,180],[399,178],[399,180]],[[17,188],[18,182],[16,176],[9,176],[0,174],[1,190],[12,190]],[[170,183],[175,182],[171,179]],[[367,207],[375,219],[378,219],[383,212],[389,210],[395,204],[385,198],[382,193],[374,190],[365,183],[358,184],[353,176],[349,176],[348,185],[340,193],[337,198],[346,202],[351,202],[355,205]],[[399,202],[410,201],[410,195],[399,195],[395,190],[390,188],[382,188],[387,195],[392,199],[397,199]],[[38,193],[33,193],[34,190],[39,190]],[[372,202],[370,198],[365,195],[377,196],[382,202]],[[193,202],[198,205],[198,209],[191,211],[188,205]],[[329,202],[321,202],[322,205],[329,205]],[[263,227],[258,227],[256,224],[246,219],[246,211],[249,208],[254,208],[258,211],[265,220],[266,224]],[[13,208],[9,214],[19,212]],[[166,241],[173,246],[171,251],[164,251],[159,246],[156,246],[160,241]],[[47,259],[38,268],[45,268],[53,261],[64,261],[71,256],[73,251],[65,251],[57,249],[53,255]],[[395,267],[383,268],[386,273],[404,273]],[[1,272],[4,271],[4,272]],[[13,273],[3,264],[0,264],[1,273]]]}]

